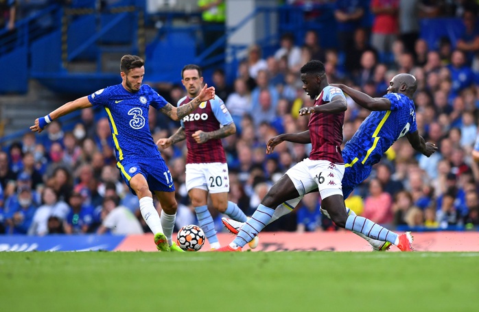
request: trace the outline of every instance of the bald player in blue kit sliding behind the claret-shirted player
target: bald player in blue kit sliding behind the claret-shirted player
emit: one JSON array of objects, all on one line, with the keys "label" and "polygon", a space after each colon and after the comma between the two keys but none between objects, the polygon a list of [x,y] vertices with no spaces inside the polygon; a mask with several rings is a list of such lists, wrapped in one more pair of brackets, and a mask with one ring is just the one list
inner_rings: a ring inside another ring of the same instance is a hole
[{"label": "bald player in blue kit sliding behind the claret-shirted player", "polygon": [[[342,178],[344,198],[347,198],[353,189],[369,176],[373,165],[379,163],[382,155],[402,136],[406,136],[412,147],[425,156],[429,157],[437,150],[436,145],[426,143],[417,131],[414,102],[412,101],[412,95],[417,89],[417,80],[413,75],[406,73],[396,75],[390,81],[388,93],[383,97],[376,98],[349,86],[344,86],[344,84],[331,84],[331,86],[336,86],[347,93],[356,104],[373,110],[342,150],[345,164],[344,177]],[[267,153],[270,154],[274,147],[283,141],[281,135],[270,139]],[[301,198],[297,197],[278,206],[274,210],[270,222],[290,213]],[[322,210],[322,212],[329,217],[327,211]],[[354,215],[349,208],[347,208],[347,212],[349,215]],[[239,222],[230,219],[223,218],[222,221],[226,228],[232,232],[242,226]],[[368,228],[368,226],[364,226],[364,228]],[[353,232],[369,241],[374,250],[387,250],[389,248],[389,242],[367,237],[364,228],[363,224],[361,224],[361,227],[354,225]],[[412,241],[410,233],[406,234]]]}]

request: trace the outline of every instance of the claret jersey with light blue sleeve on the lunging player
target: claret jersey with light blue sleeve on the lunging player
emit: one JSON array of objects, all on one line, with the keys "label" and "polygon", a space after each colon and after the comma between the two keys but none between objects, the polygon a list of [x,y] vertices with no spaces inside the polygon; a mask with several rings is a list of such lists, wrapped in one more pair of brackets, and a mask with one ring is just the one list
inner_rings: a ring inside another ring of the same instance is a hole
[{"label": "claret jersey with light blue sleeve on the lunging player", "polygon": [[[320,95],[316,97],[314,106],[327,104],[336,96],[346,98],[340,88],[336,88],[336,86],[326,86]],[[343,163],[340,149],[343,124],[344,112],[338,114],[320,112],[311,115],[311,119],[309,119],[307,125],[312,144],[309,159]]]}]

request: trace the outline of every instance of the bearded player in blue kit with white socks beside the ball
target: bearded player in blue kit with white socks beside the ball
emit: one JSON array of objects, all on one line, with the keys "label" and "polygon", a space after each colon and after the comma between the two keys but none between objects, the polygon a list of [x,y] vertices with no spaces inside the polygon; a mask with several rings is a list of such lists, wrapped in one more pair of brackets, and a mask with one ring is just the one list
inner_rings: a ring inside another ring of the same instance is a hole
[{"label": "bearded player in blue kit with white socks beside the ball", "polygon": [[[49,115],[36,119],[30,129],[42,132],[48,123],[75,110],[91,106],[104,108],[115,143],[117,167],[130,191],[139,198],[141,215],[154,233],[156,248],[183,251],[172,241],[178,204],[174,197],[172,175],[148,127],[148,109],[153,106],[179,121],[198,108],[202,101],[213,99],[215,88],[208,88],[205,84],[188,104],[172,106],[150,86],[141,84],[145,75],[144,64],[139,56],[123,56],[120,62],[121,84],[69,101]],[[153,195],[161,204],[161,217],[154,207]]]}]

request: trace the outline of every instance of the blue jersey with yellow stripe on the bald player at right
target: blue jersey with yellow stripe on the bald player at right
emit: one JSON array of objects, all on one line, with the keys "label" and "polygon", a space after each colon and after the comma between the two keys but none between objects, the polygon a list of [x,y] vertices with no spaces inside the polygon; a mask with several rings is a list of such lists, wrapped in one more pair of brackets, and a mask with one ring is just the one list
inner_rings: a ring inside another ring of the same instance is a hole
[{"label": "blue jersey with yellow stripe on the bald player at right", "polygon": [[347,148],[355,151],[356,156],[350,165],[357,161],[363,165],[378,163],[397,139],[417,131],[412,99],[399,93],[388,93],[384,97],[391,102],[390,110],[371,112],[346,143]]}]

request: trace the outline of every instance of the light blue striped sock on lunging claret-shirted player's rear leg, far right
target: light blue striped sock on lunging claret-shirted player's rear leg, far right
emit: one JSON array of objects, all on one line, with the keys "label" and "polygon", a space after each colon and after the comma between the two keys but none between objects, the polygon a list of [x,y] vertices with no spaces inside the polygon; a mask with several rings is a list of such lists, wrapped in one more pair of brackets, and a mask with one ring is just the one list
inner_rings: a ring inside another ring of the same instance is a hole
[{"label": "light blue striped sock on lunging claret-shirted player's rear leg, far right", "polygon": [[370,219],[358,215],[350,215],[346,220],[346,226],[344,226],[344,228],[360,232],[367,237],[378,239],[379,241],[388,241],[393,244],[397,243],[398,235],[395,232],[379,226],[379,224],[375,224]]}]

